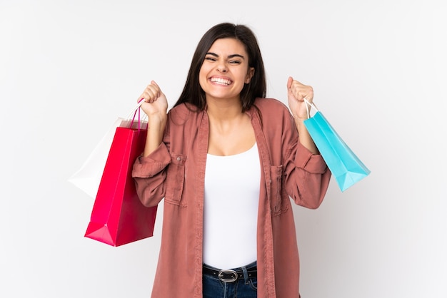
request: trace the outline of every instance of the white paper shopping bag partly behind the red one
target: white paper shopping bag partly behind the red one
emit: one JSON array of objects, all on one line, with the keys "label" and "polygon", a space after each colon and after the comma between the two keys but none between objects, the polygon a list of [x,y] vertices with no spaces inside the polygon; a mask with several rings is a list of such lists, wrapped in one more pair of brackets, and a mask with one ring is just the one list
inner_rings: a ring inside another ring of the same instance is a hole
[{"label": "white paper shopping bag partly behind the red one", "polygon": [[[139,105],[136,107],[138,108]],[[136,109],[134,109],[136,111]],[[134,113],[132,111],[132,113]],[[96,192],[98,192],[99,183],[101,182],[102,173],[104,170],[104,165],[106,165],[107,155],[109,155],[110,146],[112,140],[114,139],[115,130],[118,127],[133,127],[136,128],[138,123],[131,119],[130,113],[127,118],[117,118],[115,123],[111,125],[109,131],[104,135],[103,138],[96,145],[94,150],[90,153],[89,157],[86,159],[81,168],[76,171],[69,178],[69,182],[74,184],[80,190],[86,192],[90,197],[95,198]],[[135,113],[134,113],[135,116]],[[140,124],[146,122],[140,121]]]}]

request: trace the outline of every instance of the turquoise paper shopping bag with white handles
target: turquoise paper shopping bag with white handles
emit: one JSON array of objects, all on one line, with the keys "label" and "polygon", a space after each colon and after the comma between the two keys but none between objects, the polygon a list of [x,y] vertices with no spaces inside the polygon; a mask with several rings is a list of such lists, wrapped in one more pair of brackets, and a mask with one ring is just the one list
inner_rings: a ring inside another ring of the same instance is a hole
[{"label": "turquoise paper shopping bag with white handles", "polygon": [[[316,108],[313,103],[308,104]],[[321,111],[316,110],[313,117],[304,120],[304,125],[343,192],[368,176],[371,171],[346,145]]]}]

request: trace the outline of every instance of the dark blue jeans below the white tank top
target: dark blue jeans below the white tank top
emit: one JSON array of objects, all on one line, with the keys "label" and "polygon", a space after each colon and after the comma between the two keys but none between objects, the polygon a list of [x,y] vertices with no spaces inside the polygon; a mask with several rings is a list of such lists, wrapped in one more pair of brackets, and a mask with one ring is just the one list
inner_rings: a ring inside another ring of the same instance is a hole
[{"label": "dark blue jeans below the white tank top", "polygon": [[[205,265],[216,269],[214,267]],[[222,282],[219,277],[203,275],[204,298],[256,298],[258,297],[258,281],[256,277],[248,277],[247,270],[256,266],[256,262],[248,264],[241,268],[233,268],[234,271],[242,271],[243,279],[237,279],[235,282]],[[219,269],[216,269],[219,270]]]}]

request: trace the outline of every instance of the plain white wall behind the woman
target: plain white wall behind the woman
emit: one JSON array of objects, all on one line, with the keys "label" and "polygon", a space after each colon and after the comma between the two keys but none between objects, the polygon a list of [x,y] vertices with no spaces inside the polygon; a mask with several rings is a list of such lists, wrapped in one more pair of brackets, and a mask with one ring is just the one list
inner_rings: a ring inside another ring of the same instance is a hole
[{"label": "plain white wall behind the woman", "polygon": [[296,207],[302,296],[446,298],[446,6],[0,0],[0,297],[149,297],[161,217],[123,247],[84,238],[93,200],[67,178],[151,79],[174,103],[199,38],[231,21],[258,36],[268,96],[313,86],[372,171]]}]

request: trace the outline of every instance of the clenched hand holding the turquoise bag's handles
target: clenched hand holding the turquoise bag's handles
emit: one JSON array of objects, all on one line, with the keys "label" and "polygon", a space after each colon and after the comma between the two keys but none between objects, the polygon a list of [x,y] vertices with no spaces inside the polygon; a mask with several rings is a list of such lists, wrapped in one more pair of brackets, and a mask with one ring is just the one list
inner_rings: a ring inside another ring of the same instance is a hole
[{"label": "clenched hand holding the turquoise bag's handles", "polygon": [[[313,88],[303,85],[289,76],[287,81],[287,98],[288,107],[291,109],[293,118],[301,121],[306,120],[308,113],[307,103],[304,101],[304,98],[310,103],[313,101]],[[310,111],[311,107],[309,106],[308,108]]]}]

